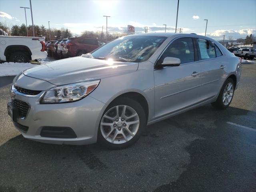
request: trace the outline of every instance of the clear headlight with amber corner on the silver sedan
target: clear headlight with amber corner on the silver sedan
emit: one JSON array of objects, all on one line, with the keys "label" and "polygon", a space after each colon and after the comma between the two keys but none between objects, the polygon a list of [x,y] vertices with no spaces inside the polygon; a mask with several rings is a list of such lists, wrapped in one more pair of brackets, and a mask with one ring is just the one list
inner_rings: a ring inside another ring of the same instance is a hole
[{"label": "clear headlight with amber corner on the silver sedan", "polygon": [[57,86],[46,91],[40,103],[66,103],[78,101],[92,92],[100,80]]}]

